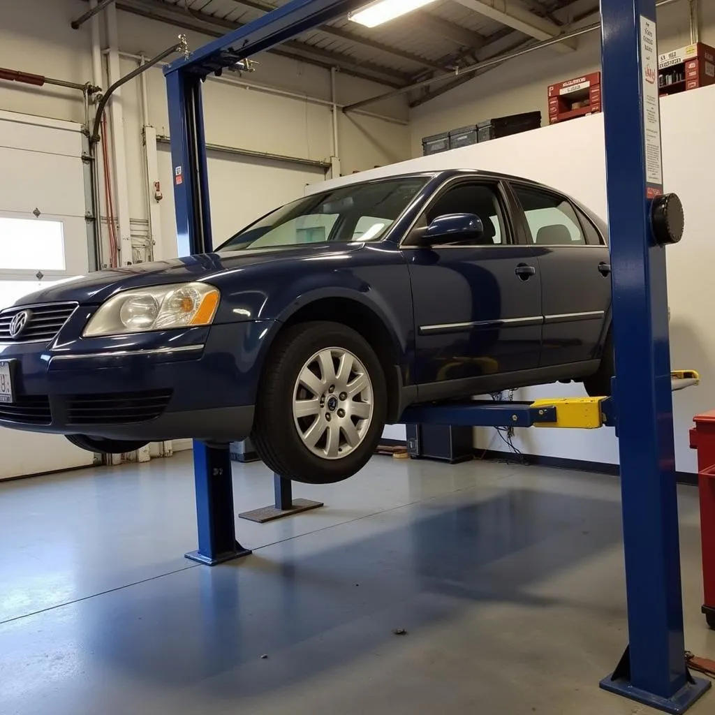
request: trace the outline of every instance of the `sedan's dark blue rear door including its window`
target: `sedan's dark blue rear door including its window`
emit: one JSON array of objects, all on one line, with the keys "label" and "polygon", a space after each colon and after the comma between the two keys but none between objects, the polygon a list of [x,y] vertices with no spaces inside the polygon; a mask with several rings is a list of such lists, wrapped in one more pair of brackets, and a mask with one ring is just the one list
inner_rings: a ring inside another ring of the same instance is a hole
[{"label": "sedan's dark blue rear door including its window", "polygon": [[570,199],[512,182],[541,275],[542,368],[591,360],[611,305],[608,247]]}]

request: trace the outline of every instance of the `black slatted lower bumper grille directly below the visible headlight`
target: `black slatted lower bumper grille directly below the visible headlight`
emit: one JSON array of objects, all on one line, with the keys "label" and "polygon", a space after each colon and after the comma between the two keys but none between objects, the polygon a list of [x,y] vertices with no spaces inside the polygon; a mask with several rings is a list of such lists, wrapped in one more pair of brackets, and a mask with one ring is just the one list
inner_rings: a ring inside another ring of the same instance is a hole
[{"label": "black slatted lower bumper grille directly below the visible headlight", "polygon": [[119,425],[155,420],[166,410],[172,390],[79,395],[67,400],[71,425]]}]

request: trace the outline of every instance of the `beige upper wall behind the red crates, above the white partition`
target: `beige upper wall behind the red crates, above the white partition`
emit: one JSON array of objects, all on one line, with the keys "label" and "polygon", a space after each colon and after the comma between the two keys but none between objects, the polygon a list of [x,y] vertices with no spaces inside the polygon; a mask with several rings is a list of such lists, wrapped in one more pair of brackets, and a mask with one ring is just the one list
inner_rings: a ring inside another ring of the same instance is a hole
[{"label": "beige upper wall behind the red crates, above the white partition", "polygon": [[[699,5],[700,39],[715,45],[715,2],[701,0]],[[598,16],[592,16],[575,27],[591,24],[596,19]],[[553,47],[533,51],[410,110],[413,157],[422,154],[422,137],[491,117],[540,111],[542,123],[547,124],[549,84],[601,69],[600,33],[593,31],[577,41],[576,51],[559,53]],[[690,43],[687,1],[658,9],[658,41],[661,52]]]}]

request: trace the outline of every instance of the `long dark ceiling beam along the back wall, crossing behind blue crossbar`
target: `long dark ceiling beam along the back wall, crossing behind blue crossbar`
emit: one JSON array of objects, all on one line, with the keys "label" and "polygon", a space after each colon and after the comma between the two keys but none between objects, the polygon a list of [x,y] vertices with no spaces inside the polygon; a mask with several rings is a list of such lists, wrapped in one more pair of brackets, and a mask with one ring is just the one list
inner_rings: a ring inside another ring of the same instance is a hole
[{"label": "long dark ceiling beam along the back wall, crossing behind blue crossbar", "polygon": [[[187,12],[180,9],[180,6],[169,5],[161,0],[117,0],[117,9],[211,37],[220,37],[242,26],[240,22],[232,22],[200,12]],[[335,66],[345,74],[367,79],[370,82],[379,82],[388,87],[403,87],[410,82],[410,75],[390,67],[358,61],[348,55],[312,47],[297,40],[284,42],[280,47],[269,52],[325,69]]]}]

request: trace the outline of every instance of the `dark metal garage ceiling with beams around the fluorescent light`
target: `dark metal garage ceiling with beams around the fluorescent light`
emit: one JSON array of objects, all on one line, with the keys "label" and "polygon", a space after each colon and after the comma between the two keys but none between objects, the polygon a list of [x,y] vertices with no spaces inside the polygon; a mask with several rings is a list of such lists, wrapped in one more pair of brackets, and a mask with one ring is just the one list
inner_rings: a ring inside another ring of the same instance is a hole
[{"label": "dark metal garage ceiling with beams around the fluorescent light", "polygon": [[[220,36],[288,0],[117,0],[117,8]],[[598,11],[598,0],[437,0],[383,26],[368,29],[339,19],[272,50],[389,87],[455,71],[533,42],[558,36]],[[573,45],[555,46],[559,51]],[[413,104],[454,84],[422,89]]]}]

